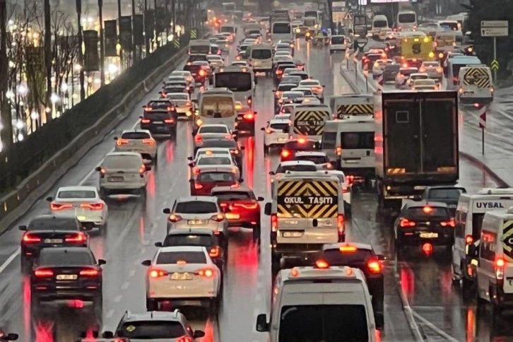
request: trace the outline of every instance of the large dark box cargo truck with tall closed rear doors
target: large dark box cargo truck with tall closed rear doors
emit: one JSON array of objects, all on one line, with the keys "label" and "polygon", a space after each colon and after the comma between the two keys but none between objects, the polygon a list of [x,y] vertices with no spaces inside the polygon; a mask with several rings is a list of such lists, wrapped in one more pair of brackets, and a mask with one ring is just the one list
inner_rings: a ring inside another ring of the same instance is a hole
[{"label": "large dark box cargo truck with tall closed rear doors", "polygon": [[454,91],[374,96],[378,208],[401,208],[431,185],[459,178],[458,96]]}]

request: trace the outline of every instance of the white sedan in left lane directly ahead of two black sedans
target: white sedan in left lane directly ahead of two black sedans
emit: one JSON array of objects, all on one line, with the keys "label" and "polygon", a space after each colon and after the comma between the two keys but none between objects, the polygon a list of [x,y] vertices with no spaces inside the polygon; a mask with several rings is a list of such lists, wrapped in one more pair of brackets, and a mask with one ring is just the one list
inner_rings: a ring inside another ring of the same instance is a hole
[{"label": "white sedan in left lane directly ahead of two black sedans", "polygon": [[48,197],[55,216],[72,216],[86,229],[107,228],[107,204],[100,199],[96,187],[60,187],[55,197]]}]

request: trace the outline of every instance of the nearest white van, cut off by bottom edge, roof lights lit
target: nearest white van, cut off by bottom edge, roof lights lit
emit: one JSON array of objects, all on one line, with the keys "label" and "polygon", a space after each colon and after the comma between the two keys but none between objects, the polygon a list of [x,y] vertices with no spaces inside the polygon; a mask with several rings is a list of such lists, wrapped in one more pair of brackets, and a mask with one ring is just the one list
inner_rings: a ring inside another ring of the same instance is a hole
[{"label": "nearest white van, cut off by bottom edge, roof lights lit", "polygon": [[276,276],[271,315],[257,317],[257,331],[269,341],[376,341],[372,302],[359,269],[314,267],[285,269]]}]

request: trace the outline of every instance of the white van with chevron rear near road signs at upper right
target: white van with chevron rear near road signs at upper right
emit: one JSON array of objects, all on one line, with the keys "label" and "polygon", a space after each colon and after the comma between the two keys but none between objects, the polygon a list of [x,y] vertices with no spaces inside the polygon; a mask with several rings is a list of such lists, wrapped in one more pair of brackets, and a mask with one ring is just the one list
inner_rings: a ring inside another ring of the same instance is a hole
[{"label": "white van with chevron rear near road signs at upper right", "polygon": [[488,66],[464,66],[459,69],[459,102],[485,103],[493,100],[492,72]]}]

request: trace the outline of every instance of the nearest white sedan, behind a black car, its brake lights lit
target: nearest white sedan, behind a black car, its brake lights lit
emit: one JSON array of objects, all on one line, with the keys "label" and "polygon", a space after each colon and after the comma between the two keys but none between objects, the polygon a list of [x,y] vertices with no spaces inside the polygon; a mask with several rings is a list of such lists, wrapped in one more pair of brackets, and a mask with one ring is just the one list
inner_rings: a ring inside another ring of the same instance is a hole
[{"label": "nearest white sedan, behind a black car, its brake lights lit", "polygon": [[160,247],[153,260],[142,264],[149,267],[146,276],[148,311],[158,311],[160,302],[170,301],[173,307],[206,307],[212,313],[217,312],[221,273],[205,247]]}]

